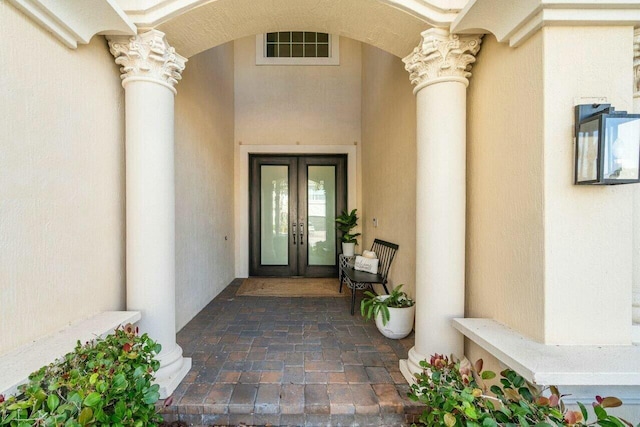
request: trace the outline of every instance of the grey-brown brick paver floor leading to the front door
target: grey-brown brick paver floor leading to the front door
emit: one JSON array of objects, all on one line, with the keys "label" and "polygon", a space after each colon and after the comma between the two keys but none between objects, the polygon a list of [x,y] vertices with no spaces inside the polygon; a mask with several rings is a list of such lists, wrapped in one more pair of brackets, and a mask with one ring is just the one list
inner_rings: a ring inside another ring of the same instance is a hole
[{"label": "grey-brown brick paver floor leading to the front door", "polygon": [[193,367],[162,409],[166,421],[401,426],[421,412],[398,368],[413,334],[390,340],[351,316],[348,290],[344,298],[238,297],[241,282],[178,333]]}]

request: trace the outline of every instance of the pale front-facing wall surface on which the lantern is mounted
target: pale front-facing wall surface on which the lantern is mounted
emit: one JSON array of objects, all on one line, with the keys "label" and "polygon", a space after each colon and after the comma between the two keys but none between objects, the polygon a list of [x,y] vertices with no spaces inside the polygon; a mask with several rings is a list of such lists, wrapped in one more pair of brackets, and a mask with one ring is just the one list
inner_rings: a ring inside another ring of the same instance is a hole
[{"label": "pale front-facing wall surface on which the lantern is mounted", "polygon": [[633,28],[542,36],[546,342],[629,344],[634,186],[573,185],[572,125],[574,98],[632,110]]}]

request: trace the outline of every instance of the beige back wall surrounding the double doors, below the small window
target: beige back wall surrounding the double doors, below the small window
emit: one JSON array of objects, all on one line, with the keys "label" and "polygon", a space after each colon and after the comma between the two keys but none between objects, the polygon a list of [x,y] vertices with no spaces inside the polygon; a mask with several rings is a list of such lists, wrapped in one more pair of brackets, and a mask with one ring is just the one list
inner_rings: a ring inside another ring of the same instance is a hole
[{"label": "beige back wall surrounding the double doors, below the small window", "polygon": [[362,56],[361,43],[341,37],[338,66],[256,65],[255,36],[234,45],[235,260],[236,276],[246,277],[247,153],[349,153],[348,204],[361,209]]}]

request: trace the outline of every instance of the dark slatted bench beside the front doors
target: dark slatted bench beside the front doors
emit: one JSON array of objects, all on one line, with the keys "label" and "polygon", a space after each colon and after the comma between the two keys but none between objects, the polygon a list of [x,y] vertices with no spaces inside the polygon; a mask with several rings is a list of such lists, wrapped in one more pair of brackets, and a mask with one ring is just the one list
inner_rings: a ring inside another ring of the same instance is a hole
[{"label": "dark slatted bench beside the front doors", "polygon": [[341,262],[338,278],[340,280],[340,292],[342,292],[343,282],[346,282],[347,287],[351,289],[351,315],[355,312],[357,290],[364,290],[371,287],[374,283],[380,283],[384,287],[385,292],[387,294],[389,293],[387,289],[387,276],[389,275],[391,262],[393,262],[398,248],[399,246],[395,243],[385,242],[380,239],[373,241],[371,251],[376,253],[379,260],[377,274],[356,270],[353,268],[353,263],[349,262],[350,260],[346,260],[346,257],[343,257],[343,260],[346,261]]}]

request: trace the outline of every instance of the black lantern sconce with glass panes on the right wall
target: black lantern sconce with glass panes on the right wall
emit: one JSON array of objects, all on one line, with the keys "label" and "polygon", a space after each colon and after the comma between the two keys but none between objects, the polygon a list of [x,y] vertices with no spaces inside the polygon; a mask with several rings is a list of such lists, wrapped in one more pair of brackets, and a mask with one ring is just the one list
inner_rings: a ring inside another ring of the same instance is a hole
[{"label": "black lantern sconce with glass panes on the right wall", "polygon": [[640,182],[640,114],[576,105],[575,184]]}]

